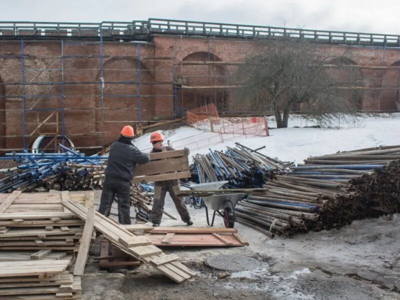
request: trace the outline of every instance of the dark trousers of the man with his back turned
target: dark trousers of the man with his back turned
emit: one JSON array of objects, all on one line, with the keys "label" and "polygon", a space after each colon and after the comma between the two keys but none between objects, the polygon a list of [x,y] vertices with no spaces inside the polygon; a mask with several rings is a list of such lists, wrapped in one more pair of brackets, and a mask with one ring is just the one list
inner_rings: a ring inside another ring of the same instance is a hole
[{"label": "dark trousers of the man with his back turned", "polygon": [[109,216],[115,194],[118,197],[118,222],[130,224],[130,181],[105,177],[98,212]]}]

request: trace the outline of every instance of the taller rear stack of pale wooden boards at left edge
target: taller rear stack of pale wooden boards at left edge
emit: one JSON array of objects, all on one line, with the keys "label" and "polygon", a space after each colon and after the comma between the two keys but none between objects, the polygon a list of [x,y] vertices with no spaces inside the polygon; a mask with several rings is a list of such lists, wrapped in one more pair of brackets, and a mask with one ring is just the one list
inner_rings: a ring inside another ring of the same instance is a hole
[{"label": "taller rear stack of pale wooden boards at left edge", "polygon": [[59,194],[13,191],[0,203],[0,250],[77,250],[84,222],[64,212]]}]

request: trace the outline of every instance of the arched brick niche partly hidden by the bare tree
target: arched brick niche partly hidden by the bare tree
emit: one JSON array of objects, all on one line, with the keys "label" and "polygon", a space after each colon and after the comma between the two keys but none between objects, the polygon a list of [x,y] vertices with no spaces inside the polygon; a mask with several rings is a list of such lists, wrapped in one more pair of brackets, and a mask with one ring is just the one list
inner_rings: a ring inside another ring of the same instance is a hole
[{"label": "arched brick niche partly hidden by the bare tree", "polygon": [[356,86],[359,89],[339,89],[342,97],[346,97],[354,103],[358,109],[363,108],[364,100],[364,79],[361,70],[356,66],[357,63],[345,56],[338,56],[330,59],[327,64],[336,64],[337,67],[327,69],[336,83],[342,87]]}]

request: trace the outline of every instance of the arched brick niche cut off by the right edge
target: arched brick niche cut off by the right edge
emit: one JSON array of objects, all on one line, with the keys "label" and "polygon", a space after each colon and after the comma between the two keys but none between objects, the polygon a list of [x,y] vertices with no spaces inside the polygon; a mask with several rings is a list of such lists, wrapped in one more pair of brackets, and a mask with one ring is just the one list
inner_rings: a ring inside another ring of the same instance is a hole
[{"label": "arched brick niche cut off by the right edge", "polygon": [[[398,66],[399,68],[388,69],[383,73],[380,109],[383,111],[400,111],[400,95],[398,90],[400,88],[400,60],[393,62],[390,66]],[[384,88],[387,88],[387,90]]]}]

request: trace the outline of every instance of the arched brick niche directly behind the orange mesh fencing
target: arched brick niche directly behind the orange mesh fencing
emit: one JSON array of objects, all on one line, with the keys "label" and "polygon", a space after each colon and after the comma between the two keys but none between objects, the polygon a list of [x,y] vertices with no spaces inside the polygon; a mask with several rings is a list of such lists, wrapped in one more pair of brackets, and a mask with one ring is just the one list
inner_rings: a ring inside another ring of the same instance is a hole
[{"label": "arched brick niche directly behind the orange mesh fencing", "polygon": [[215,87],[227,84],[227,66],[214,63],[218,61],[221,59],[215,54],[199,51],[186,55],[176,64],[174,82],[178,108],[192,109],[214,103],[218,111],[228,109],[227,89]]}]

